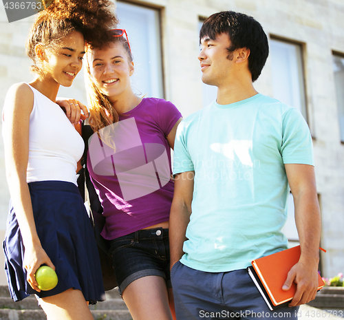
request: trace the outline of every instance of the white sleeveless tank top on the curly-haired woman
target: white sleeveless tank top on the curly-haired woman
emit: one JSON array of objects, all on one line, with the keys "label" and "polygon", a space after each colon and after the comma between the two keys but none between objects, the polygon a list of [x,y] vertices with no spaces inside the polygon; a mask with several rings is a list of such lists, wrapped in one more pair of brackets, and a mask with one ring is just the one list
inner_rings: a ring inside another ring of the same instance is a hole
[{"label": "white sleeveless tank top on the curly-haired woman", "polygon": [[83,156],[83,138],[61,107],[30,88],[34,92],[34,107],[30,114],[26,180],[58,180],[76,184],[76,162]]}]

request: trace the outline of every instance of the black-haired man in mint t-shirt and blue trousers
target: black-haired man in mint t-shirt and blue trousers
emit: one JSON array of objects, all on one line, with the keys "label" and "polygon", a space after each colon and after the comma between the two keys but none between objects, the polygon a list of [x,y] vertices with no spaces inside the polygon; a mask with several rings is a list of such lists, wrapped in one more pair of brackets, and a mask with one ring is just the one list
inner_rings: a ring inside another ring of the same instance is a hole
[{"label": "black-haired man in mint t-shirt and blue trousers", "polygon": [[217,86],[217,99],[184,119],[175,138],[169,232],[177,317],[276,317],[246,268],[287,248],[281,228],[290,186],[301,258],[283,285],[294,281],[297,292],[278,312],[297,319],[318,286],[321,219],[308,125],[297,109],[253,87],[268,57],[255,19],[213,14],[200,43],[202,81]]}]

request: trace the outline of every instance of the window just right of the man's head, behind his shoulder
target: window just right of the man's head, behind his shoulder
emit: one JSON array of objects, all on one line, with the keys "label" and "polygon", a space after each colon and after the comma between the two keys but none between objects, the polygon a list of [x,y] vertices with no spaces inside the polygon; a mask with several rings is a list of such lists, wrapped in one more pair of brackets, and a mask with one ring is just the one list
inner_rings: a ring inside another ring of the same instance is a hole
[{"label": "window just right of the man's head, behind his shoulder", "polygon": [[270,59],[274,98],[296,107],[307,120],[301,45],[270,39]]}]

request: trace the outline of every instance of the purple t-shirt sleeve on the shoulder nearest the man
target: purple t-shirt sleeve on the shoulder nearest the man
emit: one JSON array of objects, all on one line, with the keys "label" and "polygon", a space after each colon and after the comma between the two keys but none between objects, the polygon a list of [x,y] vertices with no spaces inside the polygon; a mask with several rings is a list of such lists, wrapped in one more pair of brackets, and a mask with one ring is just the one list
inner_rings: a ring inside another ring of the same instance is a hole
[{"label": "purple t-shirt sleeve on the shoulder nearest the man", "polygon": [[173,105],[173,103],[165,100],[160,100],[157,105],[158,108],[158,125],[166,136],[174,127],[175,123],[182,118],[180,111]]}]

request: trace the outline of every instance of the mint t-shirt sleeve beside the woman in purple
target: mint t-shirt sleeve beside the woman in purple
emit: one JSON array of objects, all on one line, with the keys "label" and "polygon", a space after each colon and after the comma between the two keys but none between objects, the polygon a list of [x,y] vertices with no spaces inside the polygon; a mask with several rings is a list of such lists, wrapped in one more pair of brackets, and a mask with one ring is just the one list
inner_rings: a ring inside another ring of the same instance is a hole
[{"label": "mint t-shirt sleeve beside the woman in purple", "polygon": [[194,171],[193,161],[186,143],[186,125],[183,120],[178,125],[175,134],[174,152],[173,152],[173,175],[186,171]]}]

